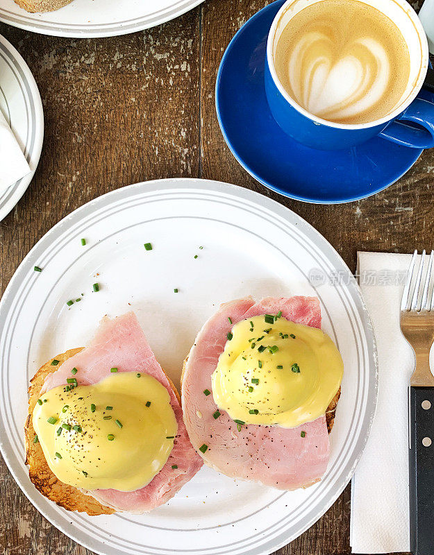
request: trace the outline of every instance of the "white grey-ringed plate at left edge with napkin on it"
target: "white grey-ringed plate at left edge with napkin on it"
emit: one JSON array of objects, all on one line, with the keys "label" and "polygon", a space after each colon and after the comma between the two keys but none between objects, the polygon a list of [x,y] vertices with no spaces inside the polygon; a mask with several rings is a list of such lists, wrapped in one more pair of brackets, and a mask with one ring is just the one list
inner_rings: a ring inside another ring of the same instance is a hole
[{"label": "white grey-ringed plate at left edge with napkin on it", "polygon": [[44,113],[35,79],[23,58],[1,35],[0,110],[22,146],[31,168],[31,173],[0,193],[1,221],[17,204],[31,182],[44,138]]}]

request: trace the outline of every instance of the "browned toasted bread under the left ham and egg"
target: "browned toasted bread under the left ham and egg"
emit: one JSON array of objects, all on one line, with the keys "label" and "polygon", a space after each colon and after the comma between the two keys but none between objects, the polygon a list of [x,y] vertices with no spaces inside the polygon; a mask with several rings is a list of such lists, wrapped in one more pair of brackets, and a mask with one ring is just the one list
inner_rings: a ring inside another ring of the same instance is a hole
[{"label": "browned toasted bread under the left ham and egg", "polygon": [[[33,429],[32,414],[37,400],[40,398],[40,391],[44,385],[44,379],[49,373],[56,372],[58,368],[70,357],[73,357],[82,348],[69,349],[62,355],[57,355],[54,359],[59,361],[57,366],[51,366],[51,361],[46,362],[31,379],[31,386],[28,388],[28,416],[24,425],[24,436],[26,441],[26,464],[28,465],[28,475],[35,488],[48,497],[51,501],[60,505],[68,511],[78,511],[79,513],[87,513],[88,515],[110,515],[115,513],[114,509],[99,503],[92,495],[83,493],[74,486],[69,486],[60,481],[49,468],[47,461],[42,452],[40,443],[33,443],[35,438],[35,430]],[[163,370],[164,372],[164,370]],[[181,397],[178,390],[174,386],[172,380],[166,375],[170,386],[174,390],[179,404]]]}]

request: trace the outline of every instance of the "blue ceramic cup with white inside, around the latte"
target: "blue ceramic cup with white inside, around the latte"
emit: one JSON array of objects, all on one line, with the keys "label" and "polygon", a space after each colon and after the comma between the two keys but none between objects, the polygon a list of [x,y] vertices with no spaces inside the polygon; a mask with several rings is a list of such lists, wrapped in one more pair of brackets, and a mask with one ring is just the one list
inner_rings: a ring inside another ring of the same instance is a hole
[{"label": "blue ceramic cup with white inside, around the latte", "polygon": [[278,11],[269,31],[265,92],[278,125],[301,144],[320,150],[349,148],[376,135],[412,148],[433,147],[434,103],[416,98],[428,71],[428,42],[415,10],[406,0],[361,0],[392,19],[408,46],[408,83],[401,100],[390,114],[369,123],[334,123],[310,114],[287,93],[274,64],[278,40],[294,15],[318,1],[324,0],[288,0]]}]

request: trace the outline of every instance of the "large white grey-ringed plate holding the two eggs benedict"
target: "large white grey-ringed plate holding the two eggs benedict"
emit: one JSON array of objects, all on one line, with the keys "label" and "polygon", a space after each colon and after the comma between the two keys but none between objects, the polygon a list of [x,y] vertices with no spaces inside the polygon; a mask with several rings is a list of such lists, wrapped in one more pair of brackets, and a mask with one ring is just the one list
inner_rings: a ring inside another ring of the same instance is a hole
[{"label": "large white grey-ringed plate holding the two eggs benedict", "polygon": [[[144,250],[147,242],[153,250]],[[42,273],[33,271],[35,264]],[[336,271],[349,276],[308,223],[226,183],[140,183],[67,216],[27,255],[0,305],[0,441],[19,486],[56,527],[101,554],[259,555],[299,536],[347,485],[376,404],[376,347],[360,290],[351,275],[338,286],[320,283]],[[67,307],[81,293],[83,300]],[[289,493],[204,467],[149,515],[93,518],[67,513],[35,490],[24,465],[22,426],[28,379],[42,363],[84,345],[105,314],[133,309],[162,367],[178,382],[203,322],[221,302],[249,294],[319,296],[324,330],[342,353],[342,398],[319,484]]]}]

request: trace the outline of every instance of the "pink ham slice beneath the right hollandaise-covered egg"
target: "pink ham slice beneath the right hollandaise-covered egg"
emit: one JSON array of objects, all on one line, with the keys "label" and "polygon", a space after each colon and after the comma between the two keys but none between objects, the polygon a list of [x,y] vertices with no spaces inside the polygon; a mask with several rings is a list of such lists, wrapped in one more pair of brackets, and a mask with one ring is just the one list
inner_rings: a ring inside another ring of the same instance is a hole
[{"label": "pink ham slice beneath the right hollandaise-covered egg", "polygon": [[[284,490],[306,488],[326,471],[329,443],[326,418],[322,416],[297,428],[243,426],[240,432],[227,413],[217,420],[211,391],[211,375],[224,350],[226,334],[233,324],[261,314],[282,315],[287,320],[321,327],[319,301],[312,297],[233,300],[220,307],[196,338],[185,365],[182,402],[185,426],[194,448],[208,445],[204,461],[233,477],[258,481]],[[301,432],[306,432],[301,437]]]}]

